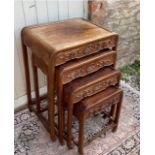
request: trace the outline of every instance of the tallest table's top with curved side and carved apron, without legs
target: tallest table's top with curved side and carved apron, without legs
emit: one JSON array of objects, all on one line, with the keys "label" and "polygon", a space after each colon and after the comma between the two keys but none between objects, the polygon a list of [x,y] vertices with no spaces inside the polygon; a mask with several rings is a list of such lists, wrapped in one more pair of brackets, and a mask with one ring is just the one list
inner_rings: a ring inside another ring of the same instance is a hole
[{"label": "tallest table's top with curved side and carved apron, without legs", "polygon": [[84,19],[69,19],[36,26],[22,31],[25,45],[32,48],[44,63],[57,55],[55,65],[81,58],[104,48],[116,48],[118,35]]}]

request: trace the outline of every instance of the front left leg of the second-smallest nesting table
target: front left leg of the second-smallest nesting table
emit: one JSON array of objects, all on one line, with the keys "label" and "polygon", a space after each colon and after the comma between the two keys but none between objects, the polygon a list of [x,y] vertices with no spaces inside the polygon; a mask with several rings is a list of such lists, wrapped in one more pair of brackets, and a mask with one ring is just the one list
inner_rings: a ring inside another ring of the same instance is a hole
[{"label": "front left leg of the second-smallest nesting table", "polygon": [[67,103],[67,146],[68,149],[72,148],[72,117],[73,117],[73,104]]}]

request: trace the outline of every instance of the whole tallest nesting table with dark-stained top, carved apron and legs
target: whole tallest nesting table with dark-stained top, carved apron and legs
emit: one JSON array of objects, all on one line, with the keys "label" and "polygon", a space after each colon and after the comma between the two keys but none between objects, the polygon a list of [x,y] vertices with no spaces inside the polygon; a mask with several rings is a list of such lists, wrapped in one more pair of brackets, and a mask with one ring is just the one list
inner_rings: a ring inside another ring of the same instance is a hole
[{"label": "whole tallest nesting table with dark-stained top, carved apron and legs", "polygon": [[[32,50],[34,72],[36,67],[47,76],[48,124],[51,140],[55,140],[54,92],[55,69],[69,61],[93,55],[100,50],[116,50],[118,35],[101,28],[85,19],[68,19],[48,24],[28,26],[22,30],[22,47],[26,76],[28,107],[32,110],[34,100],[31,97],[31,81],[27,47]],[[36,114],[40,116],[38,78],[34,77]],[[62,116],[63,117],[63,116]],[[41,118],[41,117],[39,117]],[[42,119],[41,119],[42,120]]]}]

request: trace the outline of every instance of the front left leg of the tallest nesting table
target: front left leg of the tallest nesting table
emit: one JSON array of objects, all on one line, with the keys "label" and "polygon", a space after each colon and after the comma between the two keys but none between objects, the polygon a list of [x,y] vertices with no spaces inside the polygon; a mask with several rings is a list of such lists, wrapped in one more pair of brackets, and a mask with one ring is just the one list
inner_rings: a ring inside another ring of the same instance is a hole
[{"label": "front left leg of the tallest nesting table", "polygon": [[55,128],[54,128],[54,79],[52,76],[51,68],[47,74],[47,90],[48,90],[48,121],[50,124],[51,140],[55,141]]}]

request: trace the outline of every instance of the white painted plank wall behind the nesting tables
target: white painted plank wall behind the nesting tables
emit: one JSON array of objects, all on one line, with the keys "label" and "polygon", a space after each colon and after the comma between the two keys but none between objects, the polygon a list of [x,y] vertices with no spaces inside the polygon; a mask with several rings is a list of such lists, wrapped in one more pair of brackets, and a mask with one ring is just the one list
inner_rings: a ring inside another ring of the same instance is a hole
[{"label": "white painted plank wall behind the nesting tables", "polygon": [[[25,77],[20,36],[21,29],[24,26],[48,23],[61,19],[74,17],[87,18],[87,0],[15,0],[14,10],[14,91],[15,107],[18,107],[18,105],[26,103]],[[28,50],[30,51],[30,49]],[[31,66],[30,72],[32,73]],[[32,78],[33,77],[31,76],[31,81],[33,81]],[[46,85],[45,76],[41,71],[39,72],[39,84],[40,87]],[[22,98],[24,99],[22,100]]]}]

